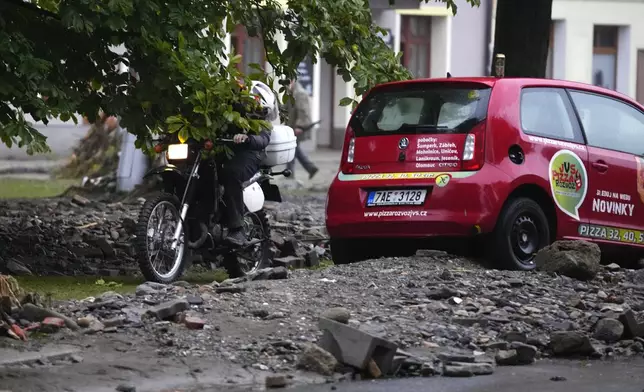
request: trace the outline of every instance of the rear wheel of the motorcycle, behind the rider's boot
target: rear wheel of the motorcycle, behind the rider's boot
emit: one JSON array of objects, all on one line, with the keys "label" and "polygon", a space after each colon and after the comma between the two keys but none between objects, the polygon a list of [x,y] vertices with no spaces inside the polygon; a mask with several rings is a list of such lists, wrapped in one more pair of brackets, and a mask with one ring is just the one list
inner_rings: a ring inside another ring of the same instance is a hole
[{"label": "rear wheel of the motorcycle, behind the rider's boot", "polygon": [[238,278],[271,266],[271,233],[268,217],[264,210],[246,211],[244,214],[244,235],[248,241],[264,241],[224,256],[224,267],[228,276]]}]

